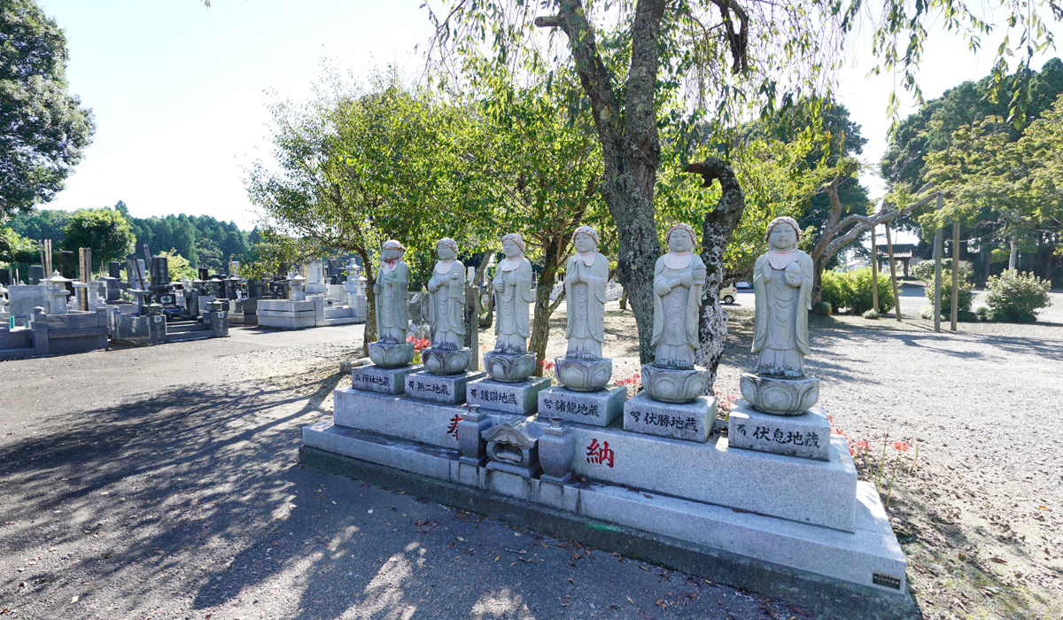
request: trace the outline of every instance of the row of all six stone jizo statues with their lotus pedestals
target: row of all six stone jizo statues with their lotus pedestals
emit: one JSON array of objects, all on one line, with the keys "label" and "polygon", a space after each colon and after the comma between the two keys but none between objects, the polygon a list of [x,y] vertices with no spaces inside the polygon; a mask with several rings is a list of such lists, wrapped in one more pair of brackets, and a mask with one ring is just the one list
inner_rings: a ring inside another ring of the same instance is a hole
[{"label": "row of all six stone jizo statues with their lotus pedestals", "polygon": [[[812,288],[812,259],[797,249],[800,230],[792,218],[773,220],[764,235],[769,251],[754,271],[756,319],[753,351],[758,354],[757,373],[742,376],[742,393],[758,409],[775,414],[799,414],[819,398],[819,380],[805,375],[808,355],[808,311]],[[706,268],[694,252],[694,230],[677,223],[668,230],[668,253],[654,270],[654,322],[651,345],[654,362],[642,367],[645,391],[654,400],[692,403],[708,390],[708,373],[694,364],[698,342],[698,315]],[[595,391],[612,375],[612,361],[602,356],[605,341],[605,300],[609,259],[597,251],[598,234],[587,225],[573,234],[575,254],[566,265],[568,349],[556,358],[557,379],[576,391]],[[532,264],[524,256],[521,235],[502,237],[502,259],[495,270],[495,346],[484,356],[491,379],[525,381],[535,370],[534,353],[527,350],[532,292]],[[382,368],[409,364],[414,346],[406,341],[409,267],[406,249],[394,239],[384,244],[376,284],[377,341],[370,357]],[[465,265],[457,259],[454,239],[436,244],[436,263],[426,288],[429,295],[432,347],[423,351],[426,370],[433,374],[463,373],[470,358],[463,349],[466,334]]]}]

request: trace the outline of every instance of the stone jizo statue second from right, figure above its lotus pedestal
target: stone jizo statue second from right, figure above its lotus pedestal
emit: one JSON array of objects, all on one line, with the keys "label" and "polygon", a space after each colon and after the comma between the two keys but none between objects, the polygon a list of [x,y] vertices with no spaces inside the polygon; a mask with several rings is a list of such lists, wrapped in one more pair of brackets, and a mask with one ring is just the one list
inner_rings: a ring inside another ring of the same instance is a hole
[{"label": "stone jizo statue second from right, figure above its lotus pedestal", "polygon": [[669,253],[654,269],[654,365],[693,368],[697,350],[697,317],[705,285],[705,263],[694,253],[694,229],[678,223],[665,236]]}]

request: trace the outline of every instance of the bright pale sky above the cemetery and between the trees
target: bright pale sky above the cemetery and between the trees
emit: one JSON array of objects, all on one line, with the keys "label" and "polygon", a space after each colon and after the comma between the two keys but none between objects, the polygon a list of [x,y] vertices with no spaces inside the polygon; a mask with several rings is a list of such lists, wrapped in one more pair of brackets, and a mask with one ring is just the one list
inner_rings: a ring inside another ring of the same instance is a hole
[{"label": "bright pale sky above the cemetery and between the trees", "polygon": [[[38,2],[66,32],[70,89],[97,122],[84,161],[45,207],[122,200],[137,217],[207,214],[241,228],[256,218],[241,167],[269,157],[266,105],[276,96],[267,90],[309,98],[326,57],[361,74],[388,64],[417,74],[423,61],[414,48],[431,36],[422,0]],[[935,36],[921,72],[926,97],[988,73],[995,48],[988,38],[991,51],[975,55],[957,36]],[[863,125],[864,157],[877,162],[894,78],[865,79],[866,49],[856,57],[839,98]],[[879,192],[878,180],[863,180]]]}]

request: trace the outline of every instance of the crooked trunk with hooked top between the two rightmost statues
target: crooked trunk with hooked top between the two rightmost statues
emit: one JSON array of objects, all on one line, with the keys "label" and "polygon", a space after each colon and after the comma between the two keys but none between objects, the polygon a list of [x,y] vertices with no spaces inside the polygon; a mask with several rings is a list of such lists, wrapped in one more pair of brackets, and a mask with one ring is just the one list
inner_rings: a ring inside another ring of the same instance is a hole
[{"label": "crooked trunk with hooked top between the two rightmost statues", "polygon": [[716,369],[724,354],[727,340],[727,313],[720,304],[720,286],[724,278],[724,252],[730,245],[735,229],[745,211],[745,197],[733,170],[723,160],[709,157],[701,164],[691,164],[688,172],[702,175],[704,187],[720,181],[722,194],[716,208],[705,214],[702,225],[702,261],[705,262],[705,298],[698,317],[696,361],[709,370],[709,391],[716,382]]}]

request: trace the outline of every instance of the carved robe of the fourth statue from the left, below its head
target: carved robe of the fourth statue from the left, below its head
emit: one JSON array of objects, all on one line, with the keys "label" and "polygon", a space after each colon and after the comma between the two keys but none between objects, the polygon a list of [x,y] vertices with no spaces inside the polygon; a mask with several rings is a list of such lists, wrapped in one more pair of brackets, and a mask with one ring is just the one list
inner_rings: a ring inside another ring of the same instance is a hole
[{"label": "carved robe of the fourth statue from the left, below its head", "polygon": [[602,357],[605,342],[605,295],[609,281],[609,258],[601,252],[589,257],[588,266],[578,254],[564,267],[564,299],[569,323],[564,337],[569,339],[568,357]]}]

